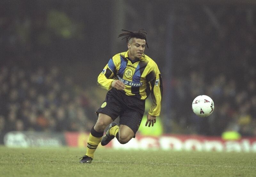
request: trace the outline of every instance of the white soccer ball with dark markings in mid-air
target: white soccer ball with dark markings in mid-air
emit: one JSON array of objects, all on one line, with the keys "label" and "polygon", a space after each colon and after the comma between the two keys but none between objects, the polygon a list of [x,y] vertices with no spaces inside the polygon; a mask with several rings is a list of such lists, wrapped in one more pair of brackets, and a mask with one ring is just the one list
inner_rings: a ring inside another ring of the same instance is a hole
[{"label": "white soccer ball with dark markings in mid-air", "polygon": [[208,117],[214,110],[212,98],[206,95],[197,96],[192,103],[192,110],[199,117]]}]

